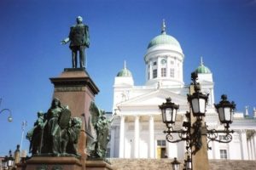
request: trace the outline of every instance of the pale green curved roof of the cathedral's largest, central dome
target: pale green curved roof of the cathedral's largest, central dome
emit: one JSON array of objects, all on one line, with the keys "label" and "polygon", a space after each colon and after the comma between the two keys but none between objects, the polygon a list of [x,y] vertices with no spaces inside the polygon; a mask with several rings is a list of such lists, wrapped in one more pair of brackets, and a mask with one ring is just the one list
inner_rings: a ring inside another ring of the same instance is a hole
[{"label": "pale green curved roof of the cathedral's largest, central dome", "polygon": [[179,42],[177,42],[177,39],[175,39],[175,37],[167,35],[166,32],[162,32],[161,35],[154,37],[148,43],[148,48],[151,48],[155,45],[160,45],[160,44],[170,44],[170,45],[176,46],[177,48],[181,48]]}]

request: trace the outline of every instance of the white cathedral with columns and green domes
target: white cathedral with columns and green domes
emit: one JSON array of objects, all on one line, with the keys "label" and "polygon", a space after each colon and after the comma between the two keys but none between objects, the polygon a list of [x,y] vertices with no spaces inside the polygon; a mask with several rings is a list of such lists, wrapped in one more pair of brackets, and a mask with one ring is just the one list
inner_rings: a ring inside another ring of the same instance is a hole
[{"label": "white cathedral with columns and green domes", "polygon": [[[108,156],[119,158],[184,158],[185,143],[169,143],[163,131],[159,105],[171,97],[179,105],[176,127],[181,127],[184,114],[189,111],[187,94],[189,83],[183,82],[183,49],[177,39],[166,33],[163,21],[161,33],[149,43],[144,61],[146,83],[135,86],[131,71],[125,68],[114,78],[113,113],[118,115],[111,126]],[[209,129],[223,129],[215,111],[212,72],[203,64],[195,69],[201,91],[209,94],[206,122]],[[192,72],[192,71],[191,71]],[[220,100],[220,96],[217,99]],[[239,101],[237,101],[239,102]],[[218,102],[216,102],[218,103]],[[211,142],[209,159],[256,160],[256,110],[253,117],[236,112],[230,125],[232,141],[229,144]],[[219,136],[221,138],[221,135]]]}]

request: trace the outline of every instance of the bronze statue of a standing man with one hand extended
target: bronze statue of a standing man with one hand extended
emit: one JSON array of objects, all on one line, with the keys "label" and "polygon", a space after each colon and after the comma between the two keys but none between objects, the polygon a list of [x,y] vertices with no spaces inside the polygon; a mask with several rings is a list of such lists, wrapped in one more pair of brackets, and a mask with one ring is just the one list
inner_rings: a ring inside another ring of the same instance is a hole
[{"label": "bronze statue of a standing man with one hand extended", "polygon": [[[89,27],[83,24],[83,18],[77,17],[77,24],[71,26],[69,36],[61,41],[61,44],[70,42],[69,48],[72,50],[72,65],[73,68],[78,67],[78,51],[80,59],[80,68],[84,68],[86,62],[85,48],[89,48]],[[85,61],[84,61],[85,58]]]}]

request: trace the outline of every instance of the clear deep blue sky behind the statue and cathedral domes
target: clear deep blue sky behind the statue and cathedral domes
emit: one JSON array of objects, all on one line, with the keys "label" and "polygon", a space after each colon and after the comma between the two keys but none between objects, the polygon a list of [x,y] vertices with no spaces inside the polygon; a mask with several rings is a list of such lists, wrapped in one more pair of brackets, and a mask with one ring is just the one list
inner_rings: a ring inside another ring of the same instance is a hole
[{"label": "clear deep blue sky behind the statue and cathedral domes", "polygon": [[[192,3],[193,2],[193,3]],[[167,33],[177,38],[185,54],[184,82],[200,64],[213,73],[215,100],[228,94],[237,110],[256,106],[256,1],[253,0],[2,0],[0,1],[0,156],[20,144],[37,111],[47,111],[53,94],[49,77],[71,67],[68,45],[61,45],[78,15],[90,26],[87,50],[90,77],[100,93],[96,103],[112,110],[113,80],[124,67],[136,85],[145,82],[143,56],[148,42]],[[28,141],[24,139],[23,149]]]}]

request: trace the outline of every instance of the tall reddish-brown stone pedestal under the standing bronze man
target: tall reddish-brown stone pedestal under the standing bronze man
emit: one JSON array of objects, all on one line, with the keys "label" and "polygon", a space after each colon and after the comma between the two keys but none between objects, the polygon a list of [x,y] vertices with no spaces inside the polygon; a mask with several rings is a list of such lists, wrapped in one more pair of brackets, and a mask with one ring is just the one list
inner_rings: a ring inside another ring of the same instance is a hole
[{"label": "tall reddish-brown stone pedestal under the standing bronze man", "polygon": [[64,69],[59,77],[50,78],[50,81],[54,84],[53,98],[60,99],[61,105],[68,105],[72,116],[78,116],[83,120],[78,151],[81,155],[81,163],[84,169],[86,129],[89,125],[90,102],[94,101],[99,89],[84,69]]}]

